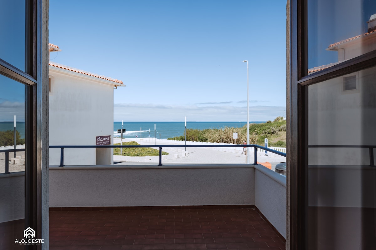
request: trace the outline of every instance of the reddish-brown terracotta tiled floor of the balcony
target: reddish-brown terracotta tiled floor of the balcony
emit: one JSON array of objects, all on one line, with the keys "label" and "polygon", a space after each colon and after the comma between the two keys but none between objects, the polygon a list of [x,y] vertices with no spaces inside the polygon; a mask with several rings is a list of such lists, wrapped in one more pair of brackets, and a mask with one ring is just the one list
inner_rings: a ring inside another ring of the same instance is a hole
[{"label": "reddish-brown terracotta tiled floor of the balcony", "polygon": [[284,250],[252,208],[50,211],[50,249]]}]

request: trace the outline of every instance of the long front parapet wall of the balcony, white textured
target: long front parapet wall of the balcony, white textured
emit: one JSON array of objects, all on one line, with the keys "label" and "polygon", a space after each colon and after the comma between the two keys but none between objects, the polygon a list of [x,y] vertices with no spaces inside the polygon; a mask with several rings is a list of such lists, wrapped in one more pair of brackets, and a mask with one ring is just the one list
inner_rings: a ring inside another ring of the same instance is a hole
[{"label": "long front parapet wall of the balcony, white textured", "polygon": [[246,165],[52,166],[50,207],[250,205],[254,174]]}]

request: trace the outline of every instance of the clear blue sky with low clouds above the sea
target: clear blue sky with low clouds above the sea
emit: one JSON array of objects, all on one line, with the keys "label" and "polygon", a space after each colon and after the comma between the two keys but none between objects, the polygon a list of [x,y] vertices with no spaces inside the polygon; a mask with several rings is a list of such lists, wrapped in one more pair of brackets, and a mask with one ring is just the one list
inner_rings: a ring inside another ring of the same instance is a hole
[{"label": "clear blue sky with low clouds above the sea", "polygon": [[273,120],[286,110],[286,1],[50,0],[50,60],[123,81],[114,121]]}]

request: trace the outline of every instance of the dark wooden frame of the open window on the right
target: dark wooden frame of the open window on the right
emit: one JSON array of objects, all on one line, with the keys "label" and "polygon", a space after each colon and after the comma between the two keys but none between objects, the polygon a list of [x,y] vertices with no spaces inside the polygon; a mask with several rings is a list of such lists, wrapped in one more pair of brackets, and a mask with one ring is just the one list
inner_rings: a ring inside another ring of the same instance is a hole
[{"label": "dark wooden frame of the open window on the right", "polygon": [[288,171],[290,182],[290,249],[307,249],[307,86],[376,66],[376,51],[371,51],[324,70],[308,75],[307,68],[307,0],[290,0],[290,43],[288,43]]}]

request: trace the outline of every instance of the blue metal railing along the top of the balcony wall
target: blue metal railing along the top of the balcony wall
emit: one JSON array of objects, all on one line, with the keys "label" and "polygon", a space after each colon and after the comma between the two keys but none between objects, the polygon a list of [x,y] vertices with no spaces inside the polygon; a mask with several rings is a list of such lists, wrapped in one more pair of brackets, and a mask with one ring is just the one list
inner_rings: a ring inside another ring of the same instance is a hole
[{"label": "blue metal railing along the top of the balcony wall", "polygon": [[[50,148],[60,148],[60,165],[59,167],[64,166],[64,148],[159,148],[159,165],[162,166],[162,148],[215,148],[215,147],[254,147],[254,162],[253,165],[257,164],[257,148],[261,148],[268,152],[278,154],[280,156],[286,157],[286,153],[282,153],[271,148],[266,148],[260,145],[255,144],[239,144],[239,145],[105,145],[105,146],[50,146]],[[1,152],[1,151],[0,151]]]}]

